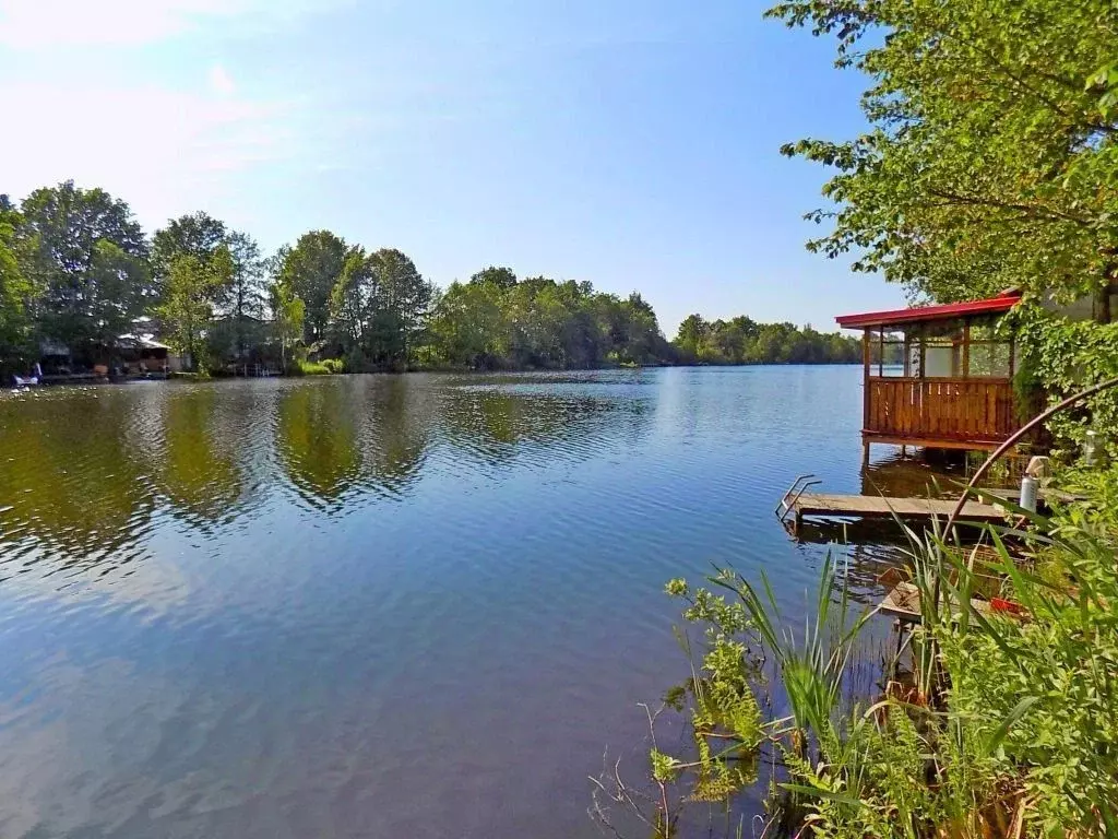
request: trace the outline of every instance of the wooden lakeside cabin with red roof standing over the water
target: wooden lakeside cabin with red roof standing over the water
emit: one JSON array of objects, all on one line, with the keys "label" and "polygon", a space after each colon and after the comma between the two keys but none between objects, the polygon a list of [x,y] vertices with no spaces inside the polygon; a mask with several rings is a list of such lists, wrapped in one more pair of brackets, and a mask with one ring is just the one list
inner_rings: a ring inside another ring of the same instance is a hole
[{"label": "wooden lakeside cabin with red roof standing over the water", "polygon": [[1020,427],[1015,347],[996,327],[1021,300],[988,300],[845,314],[862,330],[862,442],[988,450]]}]

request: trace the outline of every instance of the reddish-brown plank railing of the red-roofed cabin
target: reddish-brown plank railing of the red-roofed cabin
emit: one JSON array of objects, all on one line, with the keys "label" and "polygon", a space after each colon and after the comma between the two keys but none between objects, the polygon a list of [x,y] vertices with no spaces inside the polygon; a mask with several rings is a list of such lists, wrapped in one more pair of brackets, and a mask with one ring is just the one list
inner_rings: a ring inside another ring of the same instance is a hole
[{"label": "reddish-brown plank railing of the red-roofed cabin", "polygon": [[1016,430],[1008,379],[866,379],[868,434],[913,441],[997,442]]}]

